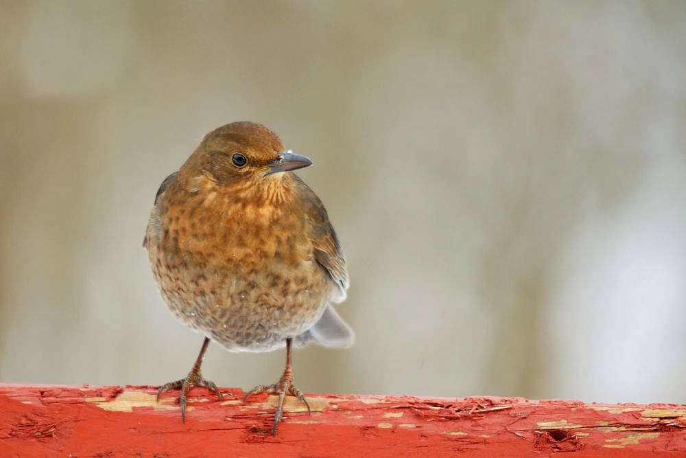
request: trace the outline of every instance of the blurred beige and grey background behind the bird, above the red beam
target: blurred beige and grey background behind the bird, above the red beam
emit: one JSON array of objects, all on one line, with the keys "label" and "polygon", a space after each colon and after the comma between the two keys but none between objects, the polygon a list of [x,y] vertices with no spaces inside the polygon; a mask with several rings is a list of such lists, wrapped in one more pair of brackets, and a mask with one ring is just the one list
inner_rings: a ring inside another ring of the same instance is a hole
[{"label": "blurred beige and grey background behind the bird, above the red beam", "polygon": [[187,374],[143,233],[247,119],[348,256],[357,343],[303,391],[686,402],[685,82],[683,1],[2,1],[0,382]]}]

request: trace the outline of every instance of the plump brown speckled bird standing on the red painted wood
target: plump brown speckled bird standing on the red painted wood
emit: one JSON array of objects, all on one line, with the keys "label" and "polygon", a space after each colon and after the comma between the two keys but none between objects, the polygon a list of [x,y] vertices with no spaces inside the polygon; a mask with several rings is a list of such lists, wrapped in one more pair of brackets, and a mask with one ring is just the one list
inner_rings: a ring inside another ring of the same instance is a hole
[{"label": "plump brown speckled bird standing on the red painted wood", "polygon": [[210,341],[230,352],[286,347],[278,382],[253,394],[279,395],[272,434],[287,393],[307,405],[294,385],[291,347],[315,342],[349,347],[353,330],[331,303],[346,298],[345,257],[324,205],[291,170],[311,161],[286,151],[271,130],[235,122],[205,135],[155,197],[143,247],[169,310],[205,335],[188,376],[158,390],[215,391],[200,365]]}]

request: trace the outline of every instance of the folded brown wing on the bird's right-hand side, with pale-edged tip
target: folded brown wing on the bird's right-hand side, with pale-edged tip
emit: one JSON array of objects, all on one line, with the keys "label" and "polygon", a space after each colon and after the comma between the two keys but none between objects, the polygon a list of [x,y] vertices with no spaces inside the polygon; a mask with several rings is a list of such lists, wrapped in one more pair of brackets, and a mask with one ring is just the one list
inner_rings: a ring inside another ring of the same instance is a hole
[{"label": "folded brown wing on the bird's right-hand side, with pale-edged tip", "polygon": [[303,201],[309,206],[305,209],[305,215],[309,218],[314,259],[327,270],[333,282],[338,286],[338,294],[334,294],[331,300],[337,303],[342,302],[345,300],[346,290],[350,286],[345,255],[340,242],[338,242],[336,232],[331,226],[329,214],[327,214],[324,204],[309,186],[297,176],[296,179],[300,183]]}]

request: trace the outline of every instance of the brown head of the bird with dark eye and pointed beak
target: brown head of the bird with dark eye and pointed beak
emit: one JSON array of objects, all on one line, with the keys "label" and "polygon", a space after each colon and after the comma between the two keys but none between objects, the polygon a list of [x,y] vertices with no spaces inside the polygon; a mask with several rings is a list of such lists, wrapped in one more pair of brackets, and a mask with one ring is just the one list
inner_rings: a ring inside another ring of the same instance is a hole
[{"label": "brown head of the bird with dark eye and pointed beak", "polygon": [[307,157],[286,151],[278,135],[254,122],[213,130],[187,161],[196,174],[225,185],[262,181],[311,164]]}]

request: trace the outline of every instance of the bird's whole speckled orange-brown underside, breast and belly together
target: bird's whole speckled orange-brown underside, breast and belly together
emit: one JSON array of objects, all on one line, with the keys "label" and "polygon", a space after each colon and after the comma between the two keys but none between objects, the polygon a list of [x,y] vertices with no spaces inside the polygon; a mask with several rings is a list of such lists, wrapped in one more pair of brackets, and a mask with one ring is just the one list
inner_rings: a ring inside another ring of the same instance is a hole
[{"label": "bird's whole speckled orange-brown underside, breast and belly together", "polygon": [[267,352],[319,319],[333,283],[316,262],[307,218],[217,193],[163,196],[147,227],[150,263],[178,319],[226,350]]}]

